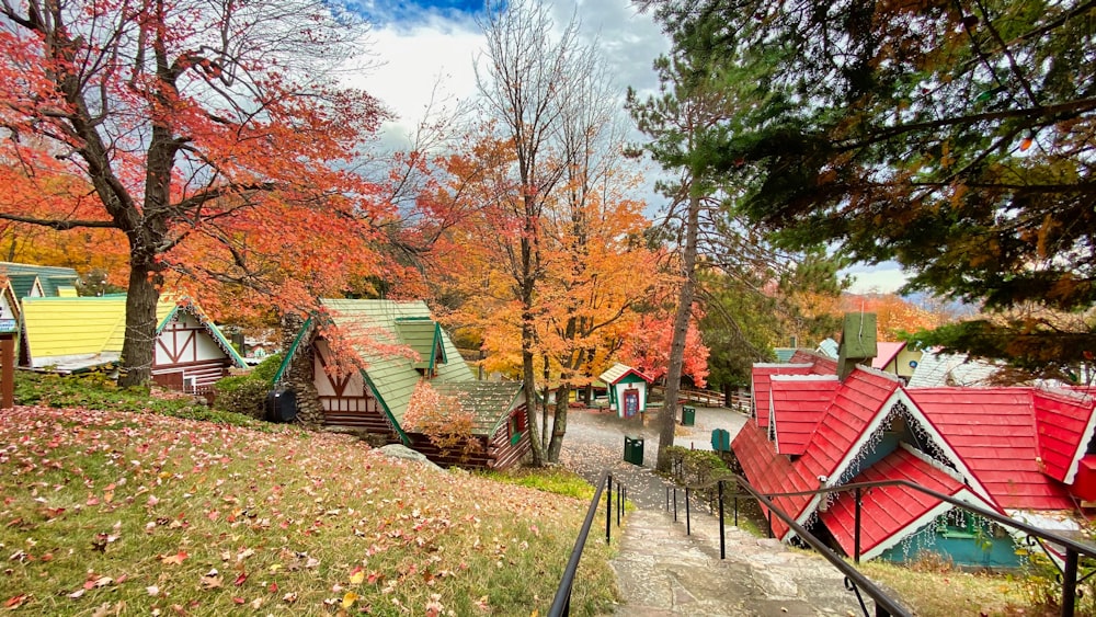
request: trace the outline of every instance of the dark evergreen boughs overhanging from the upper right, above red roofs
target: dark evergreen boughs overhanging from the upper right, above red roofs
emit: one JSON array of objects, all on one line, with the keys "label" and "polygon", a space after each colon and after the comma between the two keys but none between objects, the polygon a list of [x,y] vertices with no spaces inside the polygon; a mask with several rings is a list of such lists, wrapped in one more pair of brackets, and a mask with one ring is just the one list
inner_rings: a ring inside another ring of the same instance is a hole
[{"label": "dark evergreen boughs overhanging from the upper right, above red roofs", "polygon": [[[1091,3],[650,4],[675,48],[761,71],[770,95],[707,161],[758,175],[749,213],[788,244],[893,259],[909,290],[989,311],[1096,302]],[[1024,312],[934,341],[1029,365],[1096,347],[1088,321]]]}]

